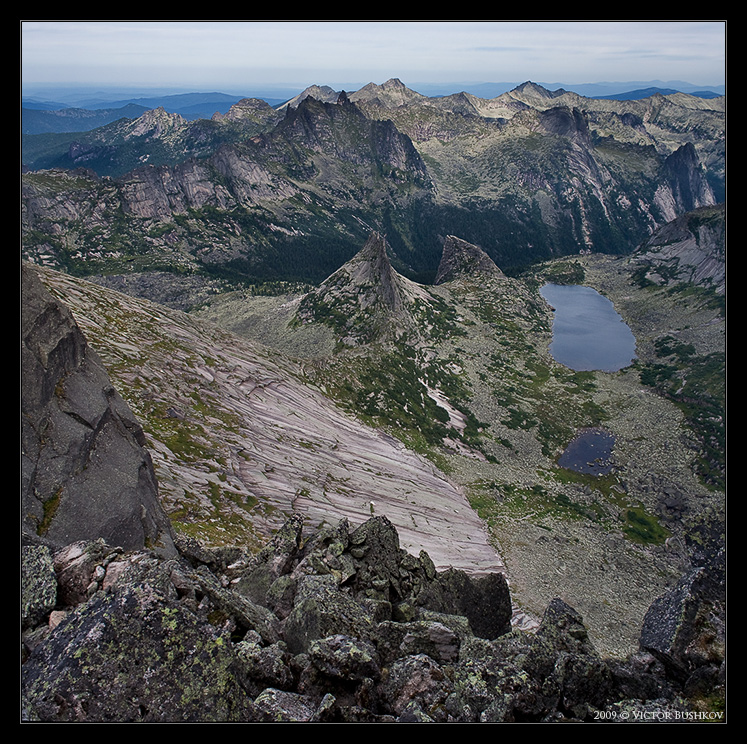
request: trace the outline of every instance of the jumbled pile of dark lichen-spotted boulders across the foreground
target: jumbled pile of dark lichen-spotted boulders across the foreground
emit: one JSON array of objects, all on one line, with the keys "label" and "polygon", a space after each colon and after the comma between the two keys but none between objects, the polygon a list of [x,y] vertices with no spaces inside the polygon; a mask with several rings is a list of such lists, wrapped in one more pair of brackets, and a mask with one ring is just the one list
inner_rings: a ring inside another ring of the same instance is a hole
[{"label": "jumbled pile of dark lichen-spotted boulders across the foreground", "polygon": [[[96,541],[57,551],[57,573],[40,560],[33,584],[42,601],[31,603],[37,611],[24,634],[24,720],[515,723],[697,714],[666,664],[643,650],[624,662],[603,658],[583,618],[560,599],[536,632],[495,635],[469,615],[491,607],[501,624],[502,576],[479,594],[464,591],[427,555],[400,550],[381,517],[352,530],[346,520],[303,528],[292,518],[258,555],[186,541],[166,560]],[[53,608],[50,583],[73,597],[68,584],[79,571],[67,569],[81,558],[98,579],[72,606]],[[707,598],[703,582],[688,587],[691,601]],[[692,618],[685,622],[692,635]]]}]

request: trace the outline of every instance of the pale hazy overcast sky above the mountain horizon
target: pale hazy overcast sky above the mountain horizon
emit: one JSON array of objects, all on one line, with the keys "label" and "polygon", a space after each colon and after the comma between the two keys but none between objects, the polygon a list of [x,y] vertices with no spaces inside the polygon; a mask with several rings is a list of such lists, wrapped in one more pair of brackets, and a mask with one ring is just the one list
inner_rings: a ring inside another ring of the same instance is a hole
[{"label": "pale hazy overcast sky above the mountain horizon", "polygon": [[22,83],[723,85],[725,21],[21,21]]}]

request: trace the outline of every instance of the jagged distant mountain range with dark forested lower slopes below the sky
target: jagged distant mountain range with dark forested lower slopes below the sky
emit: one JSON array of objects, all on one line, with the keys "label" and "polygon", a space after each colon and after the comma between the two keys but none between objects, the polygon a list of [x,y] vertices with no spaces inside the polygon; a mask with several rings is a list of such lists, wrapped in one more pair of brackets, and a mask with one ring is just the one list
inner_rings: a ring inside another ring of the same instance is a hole
[{"label": "jagged distant mountain range with dark forested lower slopes below the sky", "polygon": [[285,107],[244,99],[210,119],[159,108],[24,136],[24,255],[86,273],[316,283],[372,229],[416,281],[433,278],[448,234],[507,272],[627,253],[724,200],[724,108],[531,82],[429,97],[392,79],[345,95],[312,86]]}]

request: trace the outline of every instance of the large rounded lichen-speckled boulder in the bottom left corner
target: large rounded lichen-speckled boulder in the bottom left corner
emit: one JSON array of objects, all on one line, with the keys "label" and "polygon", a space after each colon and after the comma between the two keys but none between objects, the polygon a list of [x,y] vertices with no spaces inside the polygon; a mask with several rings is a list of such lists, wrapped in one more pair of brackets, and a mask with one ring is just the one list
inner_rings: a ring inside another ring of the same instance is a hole
[{"label": "large rounded lichen-speckled boulder in the bottom left corner", "polygon": [[250,703],[227,640],[151,582],[97,592],[22,668],[30,721],[243,721]]}]

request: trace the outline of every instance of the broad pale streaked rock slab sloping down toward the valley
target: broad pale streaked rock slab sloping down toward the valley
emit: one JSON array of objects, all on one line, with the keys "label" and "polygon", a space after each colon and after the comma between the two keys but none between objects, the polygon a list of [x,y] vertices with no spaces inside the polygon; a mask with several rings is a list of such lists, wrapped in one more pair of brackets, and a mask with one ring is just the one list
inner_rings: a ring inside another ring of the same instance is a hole
[{"label": "broad pale streaked rock slab sloping down toward the valley", "polygon": [[[184,313],[124,295],[112,298],[109,290],[67,275],[42,275],[66,302],[69,298],[92,342],[107,323],[102,300],[111,300],[112,313],[115,307],[126,312],[126,322],[107,324],[100,347],[111,352],[107,364],[117,367],[116,374],[124,371],[118,384],[183,415],[187,424],[199,421],[198,430],[205,431],[195,438],[202,453],[195,459],[180,457],[159,439],[157,428],[148,427],[159,495],[169,513],[186,494],[198,494],[200,510],[212,509],[207,485],[222,472],[240,498],[223,500],[221,509],[235,508],[237,518],[251,519],[263,539],[293,513],[315,524],[343,517],[360,524],[374,502],[375,514],[396,525],[410,553],[425,550],[440,568],[485,573],[503,567],[462,489],[426,458],[303,384],[278,355]],[[147,355],[137,352],[146,346]],[[188,388],[180,382],[187,378]],[[194,407],[195,398],[209,401],[209,421]],[[247,512],[235,506],[255,500],[262,508]],[[245,534],[246,543],[252,532]]]}]

